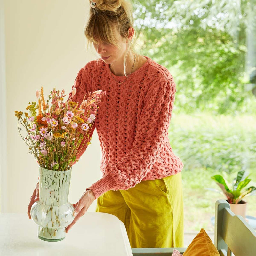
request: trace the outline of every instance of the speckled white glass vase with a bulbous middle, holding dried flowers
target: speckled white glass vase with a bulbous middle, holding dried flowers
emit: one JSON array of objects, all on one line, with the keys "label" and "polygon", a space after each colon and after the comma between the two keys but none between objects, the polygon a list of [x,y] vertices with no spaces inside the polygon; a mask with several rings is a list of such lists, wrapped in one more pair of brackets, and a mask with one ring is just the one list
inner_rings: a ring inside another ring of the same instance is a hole
[{"label": "speckled white glass vase with a bulbous middle, holding dried flowers", "polygon": [[38,225],[38,237],[44,241],[63,240],[66,227],[75,218],[75,208],[68,202],[71,170],[39,167],[39,200],[32,205],[30,215]]}]

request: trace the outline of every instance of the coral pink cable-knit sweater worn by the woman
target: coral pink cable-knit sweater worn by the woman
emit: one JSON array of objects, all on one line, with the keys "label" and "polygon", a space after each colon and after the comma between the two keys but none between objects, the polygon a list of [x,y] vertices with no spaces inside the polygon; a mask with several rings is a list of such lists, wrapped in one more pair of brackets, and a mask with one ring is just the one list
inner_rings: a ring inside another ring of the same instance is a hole
[{"label": "coral pink cable-knit sweater worn by the woman", "polygon": [[[175,156],[168,139],[176,86],[171,73],[151,58],[128,77],[111,76],[108,64],[99,58],[77,73],[72,101],[84,94],[106,91],[91,127],[96,128],[103,177],[86,190],[98,198],[109,190],[126,190],[141,180],[155,180],[181,172],[183,163]],[[69,94],[71,97],[71,92]],[[88,139],[87,139],[88,140]],[[86,150],[81,150],[77,159]]]}]

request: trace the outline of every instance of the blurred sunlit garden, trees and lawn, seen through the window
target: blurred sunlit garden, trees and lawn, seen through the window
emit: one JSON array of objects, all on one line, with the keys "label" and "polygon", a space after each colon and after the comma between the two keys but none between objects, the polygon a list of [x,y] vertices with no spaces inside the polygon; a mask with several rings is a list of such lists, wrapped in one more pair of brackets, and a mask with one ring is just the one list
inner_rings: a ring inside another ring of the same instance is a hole
[{"label": "blurred sunlit garden, trees and lawn, seen through the window", "polygon": [[[171,72],[177,92],[169,128],[184,164],[185,232],[213,231],[204,188],[240,170],[256,185],[256,0],[132,1],[137,43]],[[246,197],[256,217],[256,196]]]}]

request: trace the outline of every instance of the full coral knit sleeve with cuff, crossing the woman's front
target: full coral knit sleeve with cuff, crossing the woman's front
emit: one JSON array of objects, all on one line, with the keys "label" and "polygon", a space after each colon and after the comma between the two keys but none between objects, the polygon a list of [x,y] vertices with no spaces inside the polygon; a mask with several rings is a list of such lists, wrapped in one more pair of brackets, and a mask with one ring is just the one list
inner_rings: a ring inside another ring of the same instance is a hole
[{"label": "full coral knit sleeve with cuff, crossing the woman's front", "polygon": [[152,84],[144,98],[132,149],[117,164],[107,164],[104,176],[86,190],[95,197],[108,190],[126,190],[146,176],[156,162],[168,134],[176,85],[170,74]]}]

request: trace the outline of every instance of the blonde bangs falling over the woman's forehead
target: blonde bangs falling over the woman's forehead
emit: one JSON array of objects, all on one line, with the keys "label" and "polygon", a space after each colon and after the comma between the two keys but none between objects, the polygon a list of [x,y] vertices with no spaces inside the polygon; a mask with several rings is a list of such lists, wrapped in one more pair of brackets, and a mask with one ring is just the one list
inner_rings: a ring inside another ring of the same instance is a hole
[{"label": "blonde bangs falling over the woman's forehead", "polygon": [[97,19],[96,17],[93,17],[91,20],[89,20],[89,23],[84,31],[86,38],[90,42],[95,44],[102,42],[117,46],[118,40],[116,39],[116,33],[116,26],[110,26],[107,20],[100,16],[98,16]]}]

